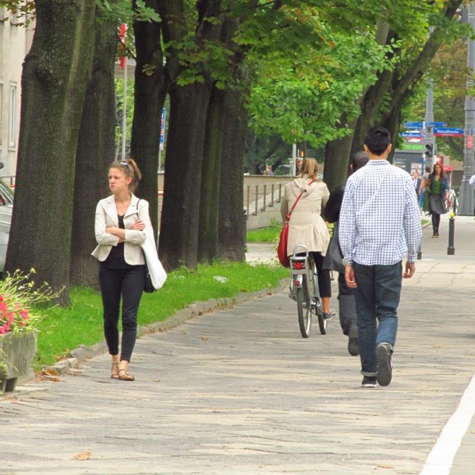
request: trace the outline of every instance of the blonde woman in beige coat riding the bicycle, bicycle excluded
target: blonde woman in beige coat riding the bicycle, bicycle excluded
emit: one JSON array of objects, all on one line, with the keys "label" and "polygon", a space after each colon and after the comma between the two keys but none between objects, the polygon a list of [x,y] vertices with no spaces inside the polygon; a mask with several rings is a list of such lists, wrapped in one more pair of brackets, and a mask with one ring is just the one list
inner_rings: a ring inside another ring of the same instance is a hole
[{"label": "blonde woman in beige coat riding the bicycle, bicycle excluded", "polygon": [[318,288],[324,318],[330,319],[335,315],[330,310],[330,297],[332,296],[330,271],[321,267],[324,263],[328,241],[330,241],[328,228],[321,218],[321,208],[326,205],[330,192],[324,182],[317,182],[317,178],[317,161],[313,158],[306,158],[300,176],[285,185],[280,212],[282,220],[285,222],[295,200],[300,193],[304,192],[289,221],[287,255],[293,254],[293,248],[298,244],[302,244],[308,249],[308,253],[313,257],[317,267]]}]

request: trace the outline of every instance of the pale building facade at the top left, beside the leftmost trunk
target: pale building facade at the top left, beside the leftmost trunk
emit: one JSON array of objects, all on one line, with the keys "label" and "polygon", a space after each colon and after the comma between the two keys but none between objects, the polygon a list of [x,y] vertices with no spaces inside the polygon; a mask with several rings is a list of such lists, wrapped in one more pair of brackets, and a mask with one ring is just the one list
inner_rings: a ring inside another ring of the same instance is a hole
[{"label": "pale building facade at the top left, beside the leftmost trunk", "polygon": [[21,70],[32,45],[34,25],[0,8],[0,176],[16,173],[21,107]]}]

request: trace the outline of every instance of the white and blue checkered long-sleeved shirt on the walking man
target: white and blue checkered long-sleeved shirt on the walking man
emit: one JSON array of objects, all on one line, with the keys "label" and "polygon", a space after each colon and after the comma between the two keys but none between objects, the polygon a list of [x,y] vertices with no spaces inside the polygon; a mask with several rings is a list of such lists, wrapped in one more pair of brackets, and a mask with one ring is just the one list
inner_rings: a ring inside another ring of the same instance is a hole
[{"label": "white and blue checkered long-sleeved shirt on the walking man", "polygon": [[387,160],[369,160],[348,178],[339,218],[343,263],[414,262],[422,239],[417,196],[409,173]]}]

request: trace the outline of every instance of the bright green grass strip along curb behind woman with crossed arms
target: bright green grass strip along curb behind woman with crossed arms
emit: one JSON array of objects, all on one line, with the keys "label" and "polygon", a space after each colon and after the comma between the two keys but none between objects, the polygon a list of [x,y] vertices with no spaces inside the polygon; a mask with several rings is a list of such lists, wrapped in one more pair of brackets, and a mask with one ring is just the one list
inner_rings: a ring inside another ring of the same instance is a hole
[{"label": "bright green grass strip along curb behind woman with crossed arms", "polygon": [[[213,277],[223,276],[227,282]],[[165,320],[177,310],[209,299],[234,297],[241,292],[255,292],[276,287],[289,276],[289,270],[269,265],[215,263],[199,265],[197,271],[178,269],[169,273],[164,287],[144,293],[138,311],[138,325]],[[40,323],[36,367],[51,365],[79,345],[93,345],[103,340],[101,294],[86,287],[71,289],[71,305],[45,310]]]}]

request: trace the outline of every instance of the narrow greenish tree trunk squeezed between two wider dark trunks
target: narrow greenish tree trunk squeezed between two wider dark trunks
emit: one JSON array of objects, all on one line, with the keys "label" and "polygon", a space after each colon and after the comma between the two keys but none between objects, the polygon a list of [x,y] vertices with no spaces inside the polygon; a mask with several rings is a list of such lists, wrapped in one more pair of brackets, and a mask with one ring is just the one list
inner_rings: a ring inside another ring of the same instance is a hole
[{"label": "narrow greenish tree trunk squeezed between two wider dark trunks", "polygon": [[203,263],[211,263],[218,253],[223,95],[223,90],[213,86],[206,114],[198,233],[198,260]]}]

